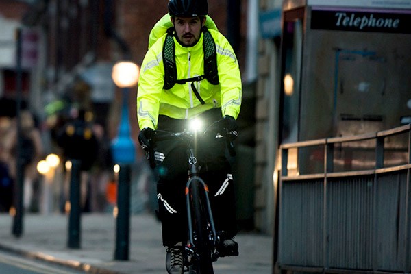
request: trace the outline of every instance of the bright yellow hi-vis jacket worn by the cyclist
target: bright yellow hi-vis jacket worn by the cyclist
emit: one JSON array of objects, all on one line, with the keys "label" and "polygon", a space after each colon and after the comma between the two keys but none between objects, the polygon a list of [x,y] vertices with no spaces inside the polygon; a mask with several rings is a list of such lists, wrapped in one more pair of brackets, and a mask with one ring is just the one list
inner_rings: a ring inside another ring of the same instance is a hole
[{"label": "bright yellow hi-vis jacket worn by the cyclist", "polygon": [[[175,84],[164,90],[164,64],[162,59],[162,36],[147,51],[141,65],[137,92],[137,117],[140,129],[157,128],[158,115],[174,119],[190,119],[212,108],[221,108],[222,116],[229,115],[237,119],[240,112],[242,84],[238,60],[227,39],[213,29],[209,29],[216,43],[219,85],[210,84],[207,79],[194,82],[201,98],[192,92],[191,82]],[[175,64],[177,79],[186,79],[204,75],[203,34],[193,47],[182,47],[175,40]]]}]

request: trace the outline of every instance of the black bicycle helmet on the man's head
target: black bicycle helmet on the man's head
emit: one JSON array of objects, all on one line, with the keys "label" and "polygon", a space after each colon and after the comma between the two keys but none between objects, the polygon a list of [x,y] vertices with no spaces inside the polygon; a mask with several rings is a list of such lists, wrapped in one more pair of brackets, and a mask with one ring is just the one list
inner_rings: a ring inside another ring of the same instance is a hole
[{"label": "black bicycle helmet on the man's head", "polygon": [[170,0],[170,16],[197,17],[208,14],[207,0]]}]

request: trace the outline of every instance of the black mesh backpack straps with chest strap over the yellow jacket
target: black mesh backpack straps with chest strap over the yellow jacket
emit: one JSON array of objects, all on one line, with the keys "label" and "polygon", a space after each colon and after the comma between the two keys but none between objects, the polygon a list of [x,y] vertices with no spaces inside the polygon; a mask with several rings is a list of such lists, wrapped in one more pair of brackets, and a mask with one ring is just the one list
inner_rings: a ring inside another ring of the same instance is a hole
[{"label": "black mesh backpack straps with chest strap over the yellow jacket", "polygon": [[[220,84],[219,71],[217,69],[217,53],[214,38],[206,27],[203,27],[203,51],[204,51],[204,74],[198,77],[187,79],[177,79],[177,67],[175,66],[175,45],[173,39],[174,28],[167,30],[166,40],[163,46],[164,60],[164,90],[173,88],[175,83],[185,84],[186,82],[201,81],[206,78],[213,85]],[[197,91],[197,90],[196,90]],[[196,96],[197,96],[197,92]],[[197,98],[199,95],[197,96]],[[202,99],[199,98],[200,101]]]}]

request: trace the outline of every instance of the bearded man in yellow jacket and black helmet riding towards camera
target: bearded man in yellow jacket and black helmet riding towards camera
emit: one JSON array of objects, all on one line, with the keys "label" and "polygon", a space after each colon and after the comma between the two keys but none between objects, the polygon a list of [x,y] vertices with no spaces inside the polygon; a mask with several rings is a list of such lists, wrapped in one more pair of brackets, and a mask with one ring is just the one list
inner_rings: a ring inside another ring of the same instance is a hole
[{"label": "bearded man in yellow jacket and black helmet riding towards camera", "polygon": [[[204,29],[207,0],[169,0],[168,8],[173,28],[149,47],[140,71],[140,145],[149,151],[156,129],[181,132],[186,121],[194,117],[201,117],[206,125],[221,121],[228,138],[234,140],[242,84],[232,46],[220,32]],[[167,39],[173,42],[172,48],[166,47]],[[210,53],[210,49],[214,52]],[[211,58],[206,60],[205,55]],[[209,66],[205,66],[205,60]],[[215,134],[201,138],[197,160],[212,199],[214,222],[221,239],[220,256],[233,256],[238,255],[238,244],[233,240],[237,233],[234,184],[225,146],[224,138]],[[183,273],[182,251],[188,235],[184,197],[188,174],[186,149],[173,140],[157,142],[154,149],[162,240],[168,247],[166,269],[172,274]]]}]

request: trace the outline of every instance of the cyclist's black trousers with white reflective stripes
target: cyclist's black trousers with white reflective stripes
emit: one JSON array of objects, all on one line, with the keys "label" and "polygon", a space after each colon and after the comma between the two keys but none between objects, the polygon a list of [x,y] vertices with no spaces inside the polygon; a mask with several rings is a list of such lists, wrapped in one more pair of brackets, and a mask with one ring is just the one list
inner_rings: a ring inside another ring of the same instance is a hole
[{"label": "cyclist's black trousers with white reflective stripes", "polygon": [[[202,121],[210,125],[221,119],[221,109],[201,114]],[[186,120],[159,117],[158,129],[180,132]],[[202,136],[195,144],[195,153],[200,164],[200,176],[209,188],[214,223],[218,233],[233,237],[237,233],[234,182],[231,166],[225,156],[224,138],[215,134]],[[162,222],[164,246],[185,242],[188,238],[185,188],[188,181],[188,156],[184,142],[165,140],[155,146],[157,198]]]}]

